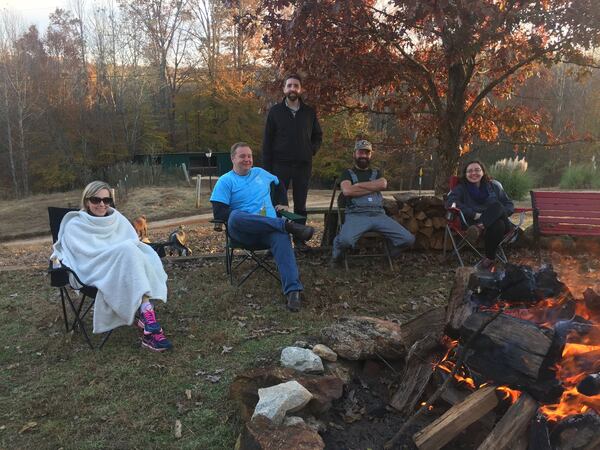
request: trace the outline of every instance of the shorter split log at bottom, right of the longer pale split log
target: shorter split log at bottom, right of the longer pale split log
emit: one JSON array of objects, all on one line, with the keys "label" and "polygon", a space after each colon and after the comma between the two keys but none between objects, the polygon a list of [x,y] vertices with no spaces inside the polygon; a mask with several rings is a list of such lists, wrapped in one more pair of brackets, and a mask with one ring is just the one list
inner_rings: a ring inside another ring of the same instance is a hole
[{"label": "shorter split log at bottom, right of the longer pale split log", "polygon": [[492,432],[481,443],[477,450],[513,449],[513,442],[521,439],[526,433],[531,418],[537,411],[538,404],[526,393],[513,403]]}]

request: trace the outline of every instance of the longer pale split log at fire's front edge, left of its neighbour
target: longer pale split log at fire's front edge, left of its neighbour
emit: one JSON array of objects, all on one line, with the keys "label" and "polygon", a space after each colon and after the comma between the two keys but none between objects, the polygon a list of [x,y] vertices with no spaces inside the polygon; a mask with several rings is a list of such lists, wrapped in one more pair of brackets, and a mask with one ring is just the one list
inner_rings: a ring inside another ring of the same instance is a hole
[{"label": "longer pale split log at fire's front edge, left of its neighbour", "polygon": [[413,441],[419,450],[437,450],[494,409],[498,401],[494,386],[479,389],[416,433]]}]

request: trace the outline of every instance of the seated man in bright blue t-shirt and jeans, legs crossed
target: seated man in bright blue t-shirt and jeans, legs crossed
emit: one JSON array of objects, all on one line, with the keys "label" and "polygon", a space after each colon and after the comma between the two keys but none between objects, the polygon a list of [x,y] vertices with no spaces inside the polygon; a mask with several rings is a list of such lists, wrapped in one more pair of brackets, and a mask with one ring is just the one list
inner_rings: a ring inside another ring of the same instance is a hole
[{"label": "seated man in bright blue t-shirt and jeans, legs crossed", "polygon": [[[277,211],[287,205],[287,194],[277,177],[260,167],[252,167],[252,150],[245,142],[231,146],[233,169],[219,177],[210,201],[215,219],[227,222],[229,235],[248,245],[268,246],[281,275],[283,293],[290,311],[299,311],[302,283],[290,234],[308,241],[313,227],[277,217]],[[271,185],[275,185],[275,204]]]}]

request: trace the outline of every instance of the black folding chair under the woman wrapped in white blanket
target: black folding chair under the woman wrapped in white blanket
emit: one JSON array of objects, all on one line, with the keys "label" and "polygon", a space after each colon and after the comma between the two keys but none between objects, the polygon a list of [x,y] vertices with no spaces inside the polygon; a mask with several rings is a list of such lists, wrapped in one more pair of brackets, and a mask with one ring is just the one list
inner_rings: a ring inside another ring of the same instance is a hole
[{"label": "black folding chair under the woman wrapped in white blanket", "polygon": [[[50,231],[52,232],[53,243],[58,240],[58,231],[60,230],[60,223],[62,222],[63,217],[70,211],[77,211],[77,209],[55,207],[48,208],[48,218],[50,220]],[[58,288],[60,292],[60,300],[62,304],[66,332],[69,333],[70,331],[81,330],[83,337],[93,350],[95,347],[90,339],[90,335],[88,334],[84,319],[94,306],[98,289],[96,289],[94,286],[88,286],[83,283],[71,268],[62,264],[60,261],[50,261],[48,272],[50,274],[50,285]],[[71,286],[71,276],[81,287]],[[79,291],[79,295],[71,297],[71,294],[69,294],[69,289],[72,289],[73,291]],[[67,306],[69,307],[68,310]],[[69,318],[69,316],[72,316],[72,318]],[[111,333],[112,330],[103,333],[100,345],[98,346],[99,350],[102,349]]]}]

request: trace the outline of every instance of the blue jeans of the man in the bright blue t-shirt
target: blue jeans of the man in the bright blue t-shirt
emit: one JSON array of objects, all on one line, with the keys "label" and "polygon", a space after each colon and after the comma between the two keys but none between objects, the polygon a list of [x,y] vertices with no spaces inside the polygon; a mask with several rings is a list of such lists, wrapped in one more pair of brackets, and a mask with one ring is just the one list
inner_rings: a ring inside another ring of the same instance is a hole
[{"label": "blue jeans of the man in the bright blue t-shirt", "polygon": [[244,245],[271,249],[284,294],[303,289],[290,235],[285,231],[285,219],[234,210],[229,215],[228,229],[229,235]]}]

